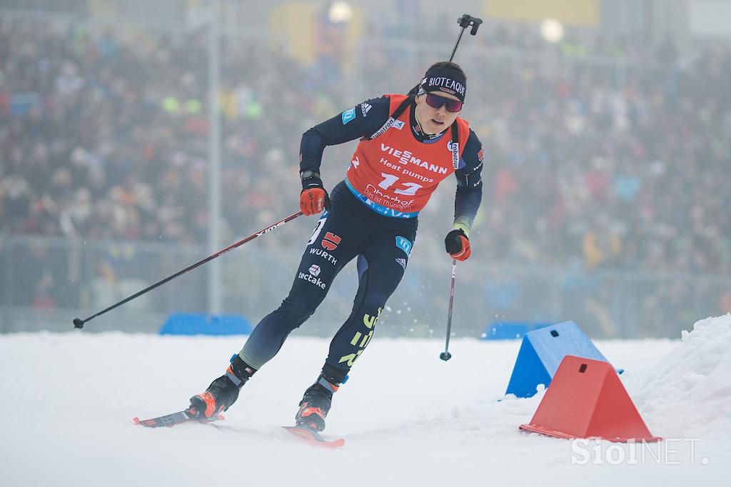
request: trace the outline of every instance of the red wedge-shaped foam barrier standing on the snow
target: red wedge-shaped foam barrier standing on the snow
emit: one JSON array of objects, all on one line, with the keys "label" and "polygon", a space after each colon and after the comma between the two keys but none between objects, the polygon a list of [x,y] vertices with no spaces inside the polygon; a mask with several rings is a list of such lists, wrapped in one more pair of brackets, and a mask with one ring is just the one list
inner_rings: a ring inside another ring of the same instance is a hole
[{"label": "red wedge-shaped foam barrier standing on the snow", "polygon": [[662,439],[645,426],[609,363],[574,355],[561,360],[531,423],[520,425],[520,429],[566,439]]}]

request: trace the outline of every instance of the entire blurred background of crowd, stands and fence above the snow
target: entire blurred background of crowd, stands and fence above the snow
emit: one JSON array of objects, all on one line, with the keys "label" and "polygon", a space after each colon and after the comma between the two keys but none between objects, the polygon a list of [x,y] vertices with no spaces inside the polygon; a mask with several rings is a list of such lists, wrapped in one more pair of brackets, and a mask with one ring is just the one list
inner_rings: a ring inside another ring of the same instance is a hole
[{"label": "entire blurred background of crowd, stands and fence above the snow", "polygon": [[[396,4],[388,20],[360,13],[351,42],[322,2],[308,56],[273,32],[221,36],[221,242],[297,211],[306,129],[406,93],[449,56],[463,12]],[[0,2],[6,328],[9,310],[93,311],[208,252],[205,29],[94,23],[79,1],[50,13],[34,5]],[[413,15],[400,23],[406,8]],[[550,42],[535,22],[482,16],[455,59],[468,74],[463,116],[485,151],[473,257],[458,285],[463,334],[495,320],[574,319],[602,336],[675,336],[731,312],[729,37],[567,26]],[[354,147],[325,152],[328,187]],[[390,303],[398,333],[432,333],[444,320],[454,184],[442,186]],[[256,322],[276,306],[312,225],[295,220],[230,257],[225,308]],[[204,311],[205,273],[181,279],[190,280],[133,309]],[[354,286],[333,290],[333,322]]]}]

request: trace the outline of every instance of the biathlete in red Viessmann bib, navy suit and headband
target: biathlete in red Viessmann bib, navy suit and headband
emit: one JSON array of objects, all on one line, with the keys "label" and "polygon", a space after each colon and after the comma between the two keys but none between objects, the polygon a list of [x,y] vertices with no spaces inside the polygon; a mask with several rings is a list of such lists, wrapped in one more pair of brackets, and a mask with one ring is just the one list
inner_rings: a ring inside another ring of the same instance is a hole
[{"label": "biathlete in red Viessmann bib, navy suit and headband", "polygon": [[[482,199],[482,144],[458,116],[466,75],[457,64],[433,64],[409,96],[369,99],[309,129],[300,144],[300,208],[319,217],[287,298],[254,328],[226,373],[186,409],[211,418],[228,409],[240,388],[279,352],[289,333],[314,313],[339,271],[357,257],[359,286],[352,313],[330,343],[317,380],[304,393],[298,426],[322,431],[333,393],[373,337],[387,299],[404,276],[418,214],[436,186],[457,178],[455,218],[447,254],[470,256],[469,232]],[[360,139],[344,181],[328,195],[319,167],[326,146]],[[323,212],[324,211],[324,212]]]}]

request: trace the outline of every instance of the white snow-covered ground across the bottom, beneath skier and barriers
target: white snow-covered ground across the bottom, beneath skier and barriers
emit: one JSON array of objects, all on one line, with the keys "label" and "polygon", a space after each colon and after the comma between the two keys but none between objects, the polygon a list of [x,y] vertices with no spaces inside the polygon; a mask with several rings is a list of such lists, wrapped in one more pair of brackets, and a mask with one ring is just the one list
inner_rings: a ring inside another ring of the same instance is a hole
[{"label": "white snow-covered ground across the bottom, beneath skier and barriers", "polygon": [[542,398],[497,401],[519,341],[453,340],[445,363],[442,341],[376,335],[327,421],[346,445],[325,450],[279,429],[317,377],[325,339],[290,337],[222,429],[144,429],[132,417],[186,407],[243,337],[4,335],[0,486],[729,485],[731,315],[695,328],[682,341],[596,342],[626,369],[651,432],[669,439],[645,447],[518,430]]}]

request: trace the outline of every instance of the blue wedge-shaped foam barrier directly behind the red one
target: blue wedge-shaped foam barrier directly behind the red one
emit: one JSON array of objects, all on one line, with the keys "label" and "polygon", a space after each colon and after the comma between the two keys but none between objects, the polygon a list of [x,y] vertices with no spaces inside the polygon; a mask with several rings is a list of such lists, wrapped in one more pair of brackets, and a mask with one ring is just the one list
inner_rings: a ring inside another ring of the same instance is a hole
[{"label": "blue wedge-shaped foam barrier directly behind the red one", "polygon": [[539,384],[548,388],[566,355],[608,362],[579,325],[564,321],[523,336],[506,394],[531,397]]}]

